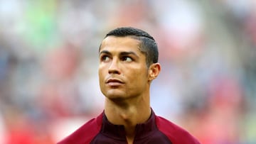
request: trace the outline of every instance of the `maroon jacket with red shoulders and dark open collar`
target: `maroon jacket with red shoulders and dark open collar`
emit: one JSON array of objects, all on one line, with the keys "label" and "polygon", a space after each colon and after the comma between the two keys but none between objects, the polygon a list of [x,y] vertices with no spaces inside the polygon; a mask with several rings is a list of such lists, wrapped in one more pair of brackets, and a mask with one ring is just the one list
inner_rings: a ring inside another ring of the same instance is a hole
[{"label": "maroon jacket with red shoulders and dark open collar", "polygon": [[[146,123],[136,126],[134,144],[199,144],[196,138],[152,112]],[[107,121],[105,113],[85,123],[58,144],[127,144],[124,126]]]}]

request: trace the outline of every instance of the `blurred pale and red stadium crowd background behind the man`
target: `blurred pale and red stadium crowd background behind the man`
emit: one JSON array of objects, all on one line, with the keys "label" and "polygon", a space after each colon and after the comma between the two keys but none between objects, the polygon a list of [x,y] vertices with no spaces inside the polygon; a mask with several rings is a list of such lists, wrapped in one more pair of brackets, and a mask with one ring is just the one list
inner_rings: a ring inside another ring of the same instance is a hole
[{"label": "blurred pale and red stadium crowd background behind the man", "polygon": [[102,112],[98,48],[159,45],[151,106],[202,144],[256,143],[256,1],[0,0],[0,143],[51,144]]}]

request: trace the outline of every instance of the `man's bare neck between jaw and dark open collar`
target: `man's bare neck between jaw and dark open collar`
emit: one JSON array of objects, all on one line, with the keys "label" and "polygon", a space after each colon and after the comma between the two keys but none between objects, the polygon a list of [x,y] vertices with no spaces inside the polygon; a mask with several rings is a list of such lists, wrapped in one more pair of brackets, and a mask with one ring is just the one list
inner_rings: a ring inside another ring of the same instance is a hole
[{"label": "man's bare neck between jaw and dark open collar", "polygon": [[135,136],[137,123],[144,123],[151,115],[148,99],[112,101],[105,100],[105,115],[110,123],[123,125],[127,141],[132,142]]}]

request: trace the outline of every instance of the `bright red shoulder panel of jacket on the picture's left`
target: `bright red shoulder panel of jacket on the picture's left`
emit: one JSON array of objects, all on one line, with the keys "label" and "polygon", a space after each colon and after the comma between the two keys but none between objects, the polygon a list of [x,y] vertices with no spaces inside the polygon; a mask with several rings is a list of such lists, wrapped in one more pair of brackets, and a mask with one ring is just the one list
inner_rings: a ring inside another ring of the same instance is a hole
[{"label": "bright red shoulder panel of jacket on the picture's left", "polygon": [[102,126],[102,113],[97,116],[97,118],[92,118],[90,121],[87,121],[84,125],[78,128],[76,131],[68,135],[68,137],[64,138],[58,144],[85,144],[90,143],[90,141],[100,132],[100,128]]}]

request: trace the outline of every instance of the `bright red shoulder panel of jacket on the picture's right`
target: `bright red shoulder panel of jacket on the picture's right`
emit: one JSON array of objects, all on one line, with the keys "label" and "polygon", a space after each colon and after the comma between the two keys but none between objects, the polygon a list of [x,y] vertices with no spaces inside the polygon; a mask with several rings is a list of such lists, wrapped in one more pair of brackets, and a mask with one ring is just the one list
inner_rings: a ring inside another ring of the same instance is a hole
[{"label": "bright red shoulder panel of jacket on the picture's right", "polygon": [[180,126],[172,123],[171,121],[156,116],[156,126],[159,131],[164,133],[172,143],[183,143],[183,144],[199,144],[198,140],[194,138],[188,131],[184,130]]}]

